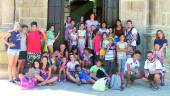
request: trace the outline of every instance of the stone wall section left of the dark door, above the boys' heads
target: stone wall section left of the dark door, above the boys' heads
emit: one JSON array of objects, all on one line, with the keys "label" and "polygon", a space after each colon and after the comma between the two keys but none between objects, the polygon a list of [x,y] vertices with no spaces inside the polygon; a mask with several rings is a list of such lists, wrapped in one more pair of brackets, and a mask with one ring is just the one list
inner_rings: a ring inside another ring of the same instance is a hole
[{"label": "stone wall section left of the dark door, above the boys' heads", "polygon": [[28,24],[37,21],[46,28],[48,0],[16,0],[16,20]]}]

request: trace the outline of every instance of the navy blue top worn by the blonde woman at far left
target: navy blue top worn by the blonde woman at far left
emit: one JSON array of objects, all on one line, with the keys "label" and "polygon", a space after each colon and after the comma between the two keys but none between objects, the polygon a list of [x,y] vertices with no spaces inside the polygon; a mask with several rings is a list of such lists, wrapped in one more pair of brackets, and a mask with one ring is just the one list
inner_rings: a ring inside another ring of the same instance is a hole
[{"label": "navy blue top worn by the blonde woman at far left", "polygon": [[15,31],[11,32],[9,42],[15,44],[15,46],[10,47],[10,49],[20,49],[20,41],[21,41],[20,32]]}]

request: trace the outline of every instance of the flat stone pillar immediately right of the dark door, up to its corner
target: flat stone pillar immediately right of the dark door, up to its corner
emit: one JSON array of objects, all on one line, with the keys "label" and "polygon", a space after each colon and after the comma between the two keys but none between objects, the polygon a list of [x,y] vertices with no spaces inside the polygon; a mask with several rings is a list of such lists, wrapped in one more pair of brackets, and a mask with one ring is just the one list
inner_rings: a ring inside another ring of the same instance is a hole
[{"label": "flat stone pillar immediately right of the dark door, up to its corner", "polygon": [[[133,25],[137,28],[141,44],[138,49],[142,52],[142,60],[145,60],[145,55],[148,47],[148,24],[149,24],[149,0],[119,0],[119,18],[122,20],[124,26],[126,21],[131,19]],[[142,63],[142,62],[141,62]]]}]

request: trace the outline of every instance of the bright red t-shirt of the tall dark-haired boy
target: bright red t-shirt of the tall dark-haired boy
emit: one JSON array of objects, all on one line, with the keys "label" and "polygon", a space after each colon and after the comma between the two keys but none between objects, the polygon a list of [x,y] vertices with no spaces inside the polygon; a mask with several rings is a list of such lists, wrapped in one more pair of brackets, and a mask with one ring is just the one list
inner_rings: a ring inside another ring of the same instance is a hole
[{"label": "bright red t-shirt of the tall dark-haired boy", "polygon": [[27,52],[41,53],[41,32],[28,32],[27,35]]}]

